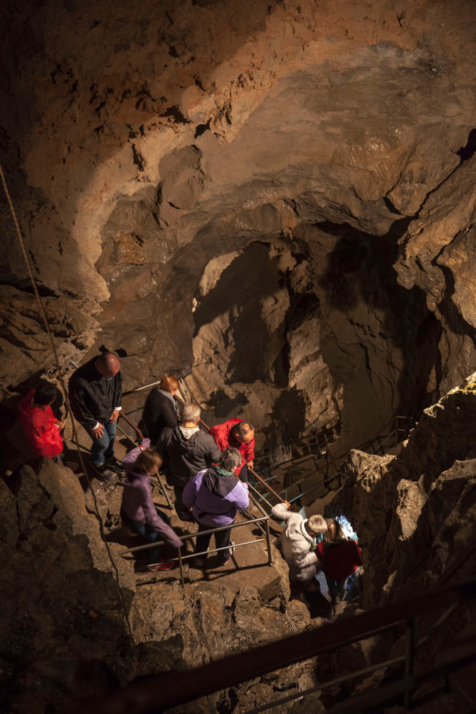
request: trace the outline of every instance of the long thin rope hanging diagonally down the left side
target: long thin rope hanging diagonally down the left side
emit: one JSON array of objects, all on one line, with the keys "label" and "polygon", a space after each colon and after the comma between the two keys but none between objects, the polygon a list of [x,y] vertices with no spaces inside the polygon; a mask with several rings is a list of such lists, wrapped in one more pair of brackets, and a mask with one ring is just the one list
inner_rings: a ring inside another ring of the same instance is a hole
[{"label": "long thin rope hanging diagonally down the left side", "polygon": [[114,559],[113,559],[113,556],[112,556],[112,553],[111,553],[111,548],[109,548],[109,544],[108,544],[108,542],[107,542],[107,540],[106,540],[106,536],[105,536],[105,534],[104,534],[104,523],[103,523],[103,519],[101,518],[101,513],[99,513],[98,501],[97,501],[97,498],[96,498],[96,493],[94,493],[94,489],[91,487],[91,478],[89,478],[88,472],[86,471],[86,466],[85,466],[84,461],[83,461],[83,455],[82,455],[81,450],[80,450],[80,448],[79,448],[79,439],[78,439],[78,433],[77,433],[77,430],[76,430],[76,422],[75,422],[73,413],[72,413],[72,411],[71,411],[71,406],[70,406],[70,404],[69,404],[68,390],[66,389],[66,386],[65,386],[65,383],[64,383],[63,373],[62,373],[61,365],[60,365],[60,363],[59,363],[59,357],[58,357],[58,352],[56,351],[56,345],[55,345],[55,343],[54,343],[53,333],[51,333],[51,329],[50,329],[50,326],[49,326],[48,318],[46,317],[46,312],[45,312],[45,310],[44,310],[43,303],[41,302],[41,296],[40,296],[39,291],[38,291],[38,288],[37,288],[37,286],[36,286],[36,281],[35,281],[35,278],[34,278],[34,274],[33,274],[33,271],[31,270],[31,266],[30,266],[30,262],[29,262],[28,256],[26,255],[26,248],[25,248],[23,236],[21,236],[21,231],[20,231],[19,222],[18,222],[18,219],[16,218],[15,208],[14,208],[14,205],[13,205],[13,203],[12,203],[12,201],[11,201],[9,188],[8,188],[8,186],[6,185],[6,179],[5,179],[5,176],[4,176],[4,170],[3,170],[2,166],[1,166],[1,164],[0,164],[0,176],[1,176],[1,181],[2,181],[2,183],[4,184],[4,190],[5,190],[5,194],[6,194],[7,201],[9,202],[10,211],[11,211],[11,216],[12,216],[13,219],[14,219],[14,223],[15,223],[15,227],[16,227],[16,233],[18,234],[18,238],[19,238],[19,242],[20,242],[20,247],[21,247],[21,252],[23,253],[23,257],[24,257],[24,261],[25,261],[25,264],[26,264],[26,268],[27,268],[27,270],[28,270],[28,272],[29,272],[29,276],[30,276],[30,280],[31,280],[31,285],[32,285],[32,287],[33,287],[33,289],[34,289],[34,293],[35,293],[35,296],[36,296],[36,301],[38,302],[39,309],[40,309],[40,313],[41,313],[41,316],[43,317],[43,321],[44,321],[44,324],[45,324],[46,332],[48,333],[48,336],[49,336],[49,339],[50,339],[50,342],[51,342],[51,351],[52,351],[52,353],[53,353],[53,355],[54,355],[54,361],[56,362],[56,368],[57,368],[57,370],[58,370],[59,383],[61,384],[61,390],[63,391],[63,394],[64,394],[65,403],[66,403],[66,405],[68,406],[69,413],[70,413],[70,416],[71,416],[71,426],[72,426],[72,428],[73,428],[74,442],[76,443],[76,451],[78,452],[79,463],[81,464],[81,468],[82,468],[82,470],[83,470],[83,473],[84,473],[85,476],[86,476],[86,481],[88,482],[88,487],[90,488],[91,493],[93,494],[94,512],[95,512],[96,518],[98,519],[99,531],[100,531],[100,533],[101,533],[101,540],[103,541],[103,543],[104,543],[104,545],[105,545],[108,558],[109,558],[109,560],[110,560],[110,562],[111,562],[111,567],[112,567],[113,573],[114,573],[114,580],[115,580],[115,582],[116,582],[116,586],[117,586],[118,593],[119,593],[119,600],[120,600],[121,605],[122,605],[122,607],[123,607],[124,618],[126,619],[126,623],[127,623],[127,629],[128,629],[129,637],[131,638],[131,643],[132,643],[132,645],[135,645],[134,639],[133,639],[133,635],[132,635],[131,621],[129,620],[128,610],[127,610],[127,606],[126,606],[126,600],[124,600],[123,592],[122,592],[122,590],[121,590],[121,585],[119,585],[119,571],[118,571],[118,569],[117,569],[116,563],[114,563]]}]

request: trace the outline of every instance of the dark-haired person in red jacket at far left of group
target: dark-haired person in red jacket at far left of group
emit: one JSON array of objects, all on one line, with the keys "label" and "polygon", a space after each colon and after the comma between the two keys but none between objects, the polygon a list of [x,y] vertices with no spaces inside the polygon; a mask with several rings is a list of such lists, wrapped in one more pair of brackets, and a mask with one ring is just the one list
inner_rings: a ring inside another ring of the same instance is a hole
[{"label": "dark-haired person in red jacket at far left of group", "polygon": [[19,421],[25,441],[35,458],[46,456],[60,461],[63,451],[61,429],[64,423],[54,416],[51,404],[58,396],[58,388],[49,382],[29,391],[19,403]]}]

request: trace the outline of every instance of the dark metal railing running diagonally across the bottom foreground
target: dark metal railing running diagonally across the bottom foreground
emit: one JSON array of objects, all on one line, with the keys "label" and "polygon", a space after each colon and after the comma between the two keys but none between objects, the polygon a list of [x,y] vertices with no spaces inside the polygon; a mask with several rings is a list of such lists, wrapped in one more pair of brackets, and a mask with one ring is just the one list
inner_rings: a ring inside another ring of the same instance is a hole
[{"label": "dark metal railing running diagonally across the bottom foreground", "polygon": [[[375,670],[402,663],[405,672],[397,681],[378,689],[351,697],[335,705],[332,714],[341,712],[365,711],[382,703],[393,701],[397,695],[403,695],[405,708],[412,704],[412,694],[417,685],[440,674],[447,674],[474,661],[474,650],[470,655],[453,655],[439,667],[429,668],[414,673],[414,634],[415,618],[418,615],[447,608],[454,604],[476,597],[476,580],[462,585],[453,585],[442,590],[432,590],[424,595],[406,600],[395,605],[388,605],[368,613],[343,618],[321,628],[306,630],[267,645],[262,645],[247,652],[241,652],[187,672],[168,672],[151,675],[140,682],[131,683],[115,693],[96,702],[89,701],[78,713],[84,714],[153,714],[157,710],[167,710],[176,705],[191,702],[203,696],[233,687],[246,680],[264,675],[308,658],[327,653],[359,640],[365,640],[383,633],[397,625],[405,625],[405,651],[402,655],[361,668],[348,675],[319,683],[313,688],[300,691],[286,697],[285,701],[298,699],[329,686],[344,683],[358,677],[365,677]],[[474,638],[471,640],[474,647]],[[467,643],[460,643],[465,644]],[[272,709],[284,700],[273,701],[263,707],[250,710],[258,712]]]}]

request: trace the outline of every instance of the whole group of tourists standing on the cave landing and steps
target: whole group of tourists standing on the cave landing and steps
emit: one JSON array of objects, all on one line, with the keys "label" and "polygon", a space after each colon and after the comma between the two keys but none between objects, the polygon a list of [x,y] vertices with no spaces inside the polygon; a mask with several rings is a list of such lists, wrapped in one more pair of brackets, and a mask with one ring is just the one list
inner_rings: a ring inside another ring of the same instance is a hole
[{"label": "whole group of tourists standing on the cave landing and steps", "polygon": [[[176,513],[181,521],[198,523],[194,565],[206,568],[211,533],[215,535],[216,566],[225,565],[233,554],[231,525],[239,509],[247,508],[248,468],[253,468],[254,429],[240,419],[200,428],[201,409],[193,403],[178,403],[175,376],[164,374],[160,385],[148,394],[139,428],[144,439],[123,462],[114,455],[116,422],[121,411],[120,362],[113,353],[103,353],[76,369],[69,380],[69,403],[79,423],[91,434],[91,465],[103,481],[114,473],[123,478],[121,517],[133,533],[151,543],[166,540],[174,548],[183,541],[169,526],[165,513],[153,503],[150,477],[163,466],[175,493]],[[61,458],[63,440],[51,408],[59,391],[42,384],[29,391],[19,405],[20,422],[34,456]],[[151,448],[151,444],[153,448]],[[273,516],[284,521],[279,547],[290,566],[290,578],[304,590],[316,587],[323,570],[333,602],[343,598],[348,575],[361,565],[361,551],[348,539],[338,521],[322,516],[306,519],[290,511],[288,502],[273,507]],[[161,560],[158,547],[150,549],[151,570],[167,570],[174,563]]]}]

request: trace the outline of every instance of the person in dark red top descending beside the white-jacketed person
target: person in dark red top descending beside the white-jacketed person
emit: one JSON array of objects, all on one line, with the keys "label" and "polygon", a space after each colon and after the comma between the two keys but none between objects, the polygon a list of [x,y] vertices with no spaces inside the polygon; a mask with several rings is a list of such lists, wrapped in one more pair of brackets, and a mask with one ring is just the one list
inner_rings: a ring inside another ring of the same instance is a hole
[{"label": "person in dark red top descending beside the white-jacketed person", "polygon": [[355,540],[347,538],[342,526],[334,518],[326,518],[328,530],[324,540],[318,543],[318,558],[327,580],[333,604],[340,603],[345,594],[345,583],[359,565],[362,565],[362,550]]}]

